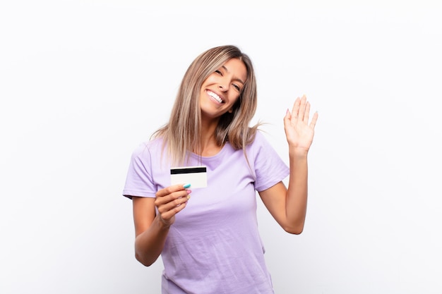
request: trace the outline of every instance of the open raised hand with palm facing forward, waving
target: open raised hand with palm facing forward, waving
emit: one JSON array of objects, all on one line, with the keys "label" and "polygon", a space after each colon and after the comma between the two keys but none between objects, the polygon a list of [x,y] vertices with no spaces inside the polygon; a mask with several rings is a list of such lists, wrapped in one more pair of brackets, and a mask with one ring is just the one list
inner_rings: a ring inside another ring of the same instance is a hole
[{"label": "open raised hand with palm facing forward, waving", "polygon": [[307,102],[306,96],[297,98],[294,101],[292,112],[287,109],[284,117],[284,129],[290,151],[309,152],[318,113],[313,114],[309,123],[310,103]]}]

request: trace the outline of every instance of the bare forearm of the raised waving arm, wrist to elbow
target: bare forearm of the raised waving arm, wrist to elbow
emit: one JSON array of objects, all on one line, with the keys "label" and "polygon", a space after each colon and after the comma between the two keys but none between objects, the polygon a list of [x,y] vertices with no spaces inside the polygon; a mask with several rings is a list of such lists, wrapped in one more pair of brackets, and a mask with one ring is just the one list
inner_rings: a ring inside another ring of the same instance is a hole
[{"label": "bare forearm of the raised waving arm, wrist to elbow", "polygon": [[304,229],[308,195],[307,152],[293,150],[289,153],[289,185],[286,198],[286,231],[299,234]]}]

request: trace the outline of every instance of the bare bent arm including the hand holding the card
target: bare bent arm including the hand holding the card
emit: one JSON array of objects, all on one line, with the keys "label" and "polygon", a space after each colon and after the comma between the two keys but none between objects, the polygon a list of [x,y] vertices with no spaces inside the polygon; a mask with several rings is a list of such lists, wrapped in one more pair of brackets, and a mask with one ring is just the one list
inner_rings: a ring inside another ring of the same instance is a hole
[{"label": "bare bent arm including the hand holding the card", "polygon": [[[186,207],[190,192],[183,185],[174,185],[159,190],[156,198],[132,197],[135,257],[146,267],[160,256],[175,214]],[[155,206],[159,212],[156,215]]]}]

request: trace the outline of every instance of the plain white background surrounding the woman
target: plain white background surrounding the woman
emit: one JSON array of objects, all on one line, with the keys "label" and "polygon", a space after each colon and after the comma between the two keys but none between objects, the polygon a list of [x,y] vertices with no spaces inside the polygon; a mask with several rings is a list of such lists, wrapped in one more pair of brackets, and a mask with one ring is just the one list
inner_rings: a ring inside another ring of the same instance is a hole
[{"label": "plain white background surrounding the woman", "polygon": [[159,293],[133,256],[132,150],[202,51],[243,49],[254,121],[319,120],[301,235],[263,209],[275,293],[442,293],[441,1],[2,1],[0,293]]}]

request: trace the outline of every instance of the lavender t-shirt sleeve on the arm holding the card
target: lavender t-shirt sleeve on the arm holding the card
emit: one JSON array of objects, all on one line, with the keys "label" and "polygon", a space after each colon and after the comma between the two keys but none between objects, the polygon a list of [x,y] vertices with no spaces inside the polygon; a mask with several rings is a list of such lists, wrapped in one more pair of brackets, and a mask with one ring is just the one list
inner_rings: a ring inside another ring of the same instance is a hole
[{"label": "lavender t-shirt sleeve on the arm holding the card", "polygon": [[150,149],[148,145],[142,144],[132,153],[123,195],[130,199],[132,196],[155,197],[156,192]]}]

